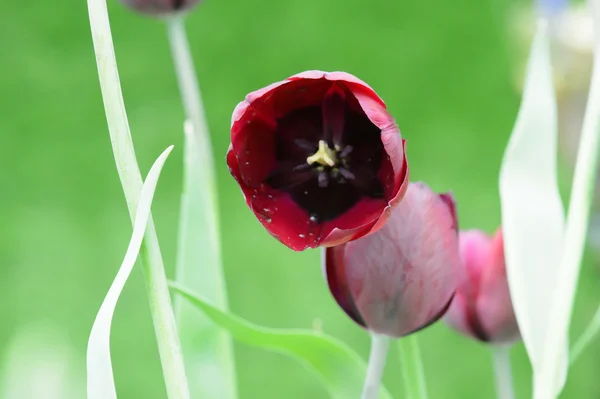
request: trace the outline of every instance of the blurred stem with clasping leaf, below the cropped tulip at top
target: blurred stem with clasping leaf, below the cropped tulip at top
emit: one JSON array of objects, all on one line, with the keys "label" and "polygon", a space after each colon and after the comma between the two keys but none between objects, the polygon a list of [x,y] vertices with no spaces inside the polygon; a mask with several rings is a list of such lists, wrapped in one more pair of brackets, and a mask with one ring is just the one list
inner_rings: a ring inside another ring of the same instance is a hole
[{"label": "blurred stem with clasping leaf, below the cropped tulip at top", "polygon": [[[181,15],[169,18],[167,35],[186,114],[184,188],[175,280],[227,310],[210,135]],[[176,296],[175,314],[194,397],[233,399],[237,383],[229,334]],[[202,333],[202,339],[198,334]],[[207,372],[212,370],[212,372]]]}]

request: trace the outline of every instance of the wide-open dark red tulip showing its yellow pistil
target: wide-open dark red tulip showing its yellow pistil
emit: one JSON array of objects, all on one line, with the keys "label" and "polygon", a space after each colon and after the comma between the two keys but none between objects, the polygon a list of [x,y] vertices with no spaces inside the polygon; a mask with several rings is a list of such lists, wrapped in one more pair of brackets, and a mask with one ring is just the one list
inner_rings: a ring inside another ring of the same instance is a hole
[{"label": "wide-open dark red tulip showing its yellow pistil", "polygon": [[258,220],[296,251],[377,231],[408,183],[394,119],[344,72],[307,71],[248,94],[227,164]]}]

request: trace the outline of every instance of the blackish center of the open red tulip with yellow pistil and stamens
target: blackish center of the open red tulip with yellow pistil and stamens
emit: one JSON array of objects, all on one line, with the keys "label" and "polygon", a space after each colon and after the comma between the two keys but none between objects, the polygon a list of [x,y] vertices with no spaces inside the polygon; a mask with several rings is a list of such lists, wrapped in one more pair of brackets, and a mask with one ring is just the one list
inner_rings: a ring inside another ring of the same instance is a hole
[{"label": "blackish center of the open red tulip with yellow pistil and stamens", "polygon": [[364,197],[384,198],[378,177],[384,153],[381,130],[334,83],[321,105],[277,120],[277,162],[265,183],[288,192],[313,222],[332,220]]}]

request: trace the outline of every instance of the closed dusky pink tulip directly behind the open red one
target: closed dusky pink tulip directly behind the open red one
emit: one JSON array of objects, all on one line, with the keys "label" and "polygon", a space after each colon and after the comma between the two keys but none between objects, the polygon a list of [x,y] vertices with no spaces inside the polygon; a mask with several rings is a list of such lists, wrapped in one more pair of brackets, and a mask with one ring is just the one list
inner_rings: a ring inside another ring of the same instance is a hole
[{"label": "closed dusky pink tulip directly behind the open red one", "polygon": [[329,289],[356,323],[391,337],[421,330],[444,315],[458,287],[454,199],[411,183],[381,229],[324,258]]}]

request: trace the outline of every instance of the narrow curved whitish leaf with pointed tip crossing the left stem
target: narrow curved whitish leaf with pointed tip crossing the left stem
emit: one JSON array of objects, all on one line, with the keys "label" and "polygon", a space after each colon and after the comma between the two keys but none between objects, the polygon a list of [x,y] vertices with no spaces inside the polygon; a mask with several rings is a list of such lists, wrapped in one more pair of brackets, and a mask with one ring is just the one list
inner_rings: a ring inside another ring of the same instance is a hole
[{"label": "narrow curved whitish leaf with pointed tip crossing the left stem", "polygon": [[115,389],[115,381],[113,378],[112,362],[110,360],[110,327],[112,324],[113,314],[117,301],[125,287],[125,283],[133,270],[135,261],[142,246],[144,232],[150,217],[150,208],[154,191],[162,167],[167,160],[167,157],[173,150],[173,146],[167,148],[154,162],[148,177],[142,186],[139,205],[137,208],[133,233],[125,259],[119,268],[117,276],[113,281],[104,302],[100,306],[100,310],[96,315],[96,320],[92,326],[90,338],[87,347],[87,399],[116,399],[117,392]]}]

